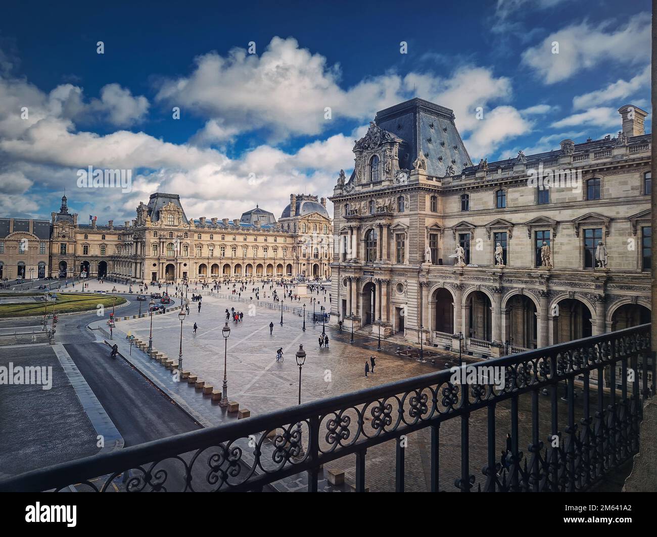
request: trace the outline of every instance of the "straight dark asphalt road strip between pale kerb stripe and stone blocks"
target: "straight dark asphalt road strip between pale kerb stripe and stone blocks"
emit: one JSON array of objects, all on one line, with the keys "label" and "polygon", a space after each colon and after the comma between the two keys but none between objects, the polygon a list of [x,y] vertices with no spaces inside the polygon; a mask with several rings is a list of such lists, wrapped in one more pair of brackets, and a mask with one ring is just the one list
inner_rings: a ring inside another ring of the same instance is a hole
[{"label": "straight dark asphalt road strip between pale kerb stripe and stone blocks", "polygon": [[125,446],[202,428],[125,360],[112,360],[107,345],[69,343],[64,348],[124,437]]}]

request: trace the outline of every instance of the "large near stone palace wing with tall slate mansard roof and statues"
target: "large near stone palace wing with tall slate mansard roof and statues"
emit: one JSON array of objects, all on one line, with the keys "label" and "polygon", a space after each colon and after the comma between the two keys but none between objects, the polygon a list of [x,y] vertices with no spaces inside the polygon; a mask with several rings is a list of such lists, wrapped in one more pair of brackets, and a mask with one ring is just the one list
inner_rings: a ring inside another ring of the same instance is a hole
[{"label": "large near stone palace wing with tall slate mansard roof and statues", "polygon": [[452,110],[378,112],[330,198],[332,322],[481,356],[648,322],[647,114],[618,112],[617,137],[476,165]]}]

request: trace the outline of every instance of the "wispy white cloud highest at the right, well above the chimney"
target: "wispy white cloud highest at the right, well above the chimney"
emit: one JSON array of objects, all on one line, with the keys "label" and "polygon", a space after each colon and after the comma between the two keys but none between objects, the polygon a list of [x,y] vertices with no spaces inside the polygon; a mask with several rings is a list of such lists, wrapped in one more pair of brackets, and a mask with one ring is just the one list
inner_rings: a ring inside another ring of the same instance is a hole
[{"label": "wispy white cloud highest at the right, well above the chimney", "polygon": [[[566,80],[603,62],[623,65],[645,64],[650,60],[650,14],[632,16],[629,22],[610,30],[611,21],[591,26],[574,24],[553,32],[540,45],[522,53],[522,62],[535,70],[546,84]],[[553,42],[558,54],[553,54]]]}]

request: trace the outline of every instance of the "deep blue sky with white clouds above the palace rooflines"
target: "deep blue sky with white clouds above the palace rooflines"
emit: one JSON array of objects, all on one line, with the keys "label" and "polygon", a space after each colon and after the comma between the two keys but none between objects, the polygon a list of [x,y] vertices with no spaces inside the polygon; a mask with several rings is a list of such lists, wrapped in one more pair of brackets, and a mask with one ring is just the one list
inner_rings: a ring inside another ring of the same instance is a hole
[{"label": "deep blue sky with white clouds above the palace rooflines", "polygon": [[[650,2],[589,7],[9,3],[0,215],[49,218],[65,189],[82,222],[132,219],[157,191],[188,217],[278,217],[291,193],[330,195],[376,111],[414,95],[454,110],[474,161],[616,135],[623,104],[651,112]],[[131,169],[131,191],[79,188],[90,165]]]}]

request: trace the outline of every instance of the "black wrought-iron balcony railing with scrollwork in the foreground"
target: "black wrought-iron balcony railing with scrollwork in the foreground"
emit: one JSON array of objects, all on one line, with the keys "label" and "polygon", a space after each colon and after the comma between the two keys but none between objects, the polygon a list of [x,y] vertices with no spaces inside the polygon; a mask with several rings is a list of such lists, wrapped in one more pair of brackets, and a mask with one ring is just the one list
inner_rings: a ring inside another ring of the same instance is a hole
[{"label": "black wrought-iron balcony railing with scrollwork in the foreground", "polygon": [[[390,467],[392,471],[395,466],[396,490],[403,491],[407,435],[421,432],[430,435],[426,450],[432,491],[445,487],[463,492],[586,490],[639,449],[642,399],[654,395],[655,389],[655,364],[648,356],[650,326],[645,324],[475,366],[499,368],[503,385],[482,380],[461,385],[453,383],[453,372],[443,370],[31,471],[0,482],[0,490],[59,491],[75,486],[75,490],[105,492],[116,490],[120,481],[120,490],[129,492],[262,490],[307,472],[307,488],[314,492],[320,465],[336,460],[351,464],[353,459],[346,457],[355,456],[355,490],[363,491],[367,451],[394,442],[395,461]],[[633,382],[631,390],[628,372],[641,372],[641,383]],[[606,387],[589,386],[591,377],[605,378]],[[576,379],[583,384],[577,405],[581,419],[576,419]],[[558,410],[562,387],[568,410],[557,416],[562,412]],[[549,396],[549,404],[543,402],[539,412],[540,394]],[[530,408],[522,420],[521,403]],[[503,406],[499,419],[497,406]],[[472,427],[472,435],[487,427],[486,453],[478,454],[487,463],[483,477],[476,477],[479,472],[470,463],[470,448],[480,442],[470,445],[470,423],[481,412],[487,426]],[[541,423],[550,414],[547,425]],[[453,429],[447,439],[449,452],[460,437],[460,462],[440,458],[439,465],[441,427],[444,435],[449,425]],[[499,445],[499,434],[506,427],[509,434],[500,459],[499,448],[504,446]],[[541,433],[547,428],[550,435],[543,442]],[[522,434],[531,442],[528,456],[520,451]],[[381,454],[391,457],[389,450],[380,450],[379,458]],[[447,479],[441,473],[449,464],[455,467],[453,475],[459,476],[453,485],[444,483]],[[122,474],[124,479],[117,479]]]}]

